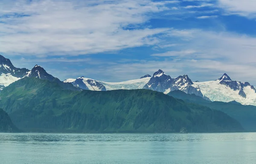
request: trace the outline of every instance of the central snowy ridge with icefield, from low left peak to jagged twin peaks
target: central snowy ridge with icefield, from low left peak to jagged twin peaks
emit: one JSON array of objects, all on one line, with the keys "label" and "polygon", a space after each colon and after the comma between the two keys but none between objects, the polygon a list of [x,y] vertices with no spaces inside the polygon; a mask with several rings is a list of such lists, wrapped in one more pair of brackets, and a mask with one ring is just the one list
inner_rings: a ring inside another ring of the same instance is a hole
[{"label": "central snowy ridge with icefield, from low left peak to jagged twin peaks", "polygon": [[178,76],[172,79],[162,70],[158,70],[151,77],[150,75],[142,76],[140,79],[129,80],[125,82],[103,82],[88,78],[66,79],[64,82],[70,82],[73,85],[84,90],[119,90],[119,89],[150,89],[165,94],[173,90],[182,90],[185,93],[196,94],[209,100],[201,93],[198,85],[195,85],[187,75]]}]

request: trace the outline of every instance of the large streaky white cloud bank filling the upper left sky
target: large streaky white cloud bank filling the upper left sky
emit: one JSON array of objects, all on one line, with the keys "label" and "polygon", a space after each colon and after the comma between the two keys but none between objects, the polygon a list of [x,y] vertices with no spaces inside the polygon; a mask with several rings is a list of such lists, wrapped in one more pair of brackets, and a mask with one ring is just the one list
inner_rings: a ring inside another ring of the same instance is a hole
[{"label": "large streaky white cloud bank filling the upper left sky", "polygon": [[[168,28],[137,28],[150,14],[167,10],[151,0],[4,0],[0,4],[0,53],[77,55],[159,42]],[[28,17],[18,17],[14,14]]]}]

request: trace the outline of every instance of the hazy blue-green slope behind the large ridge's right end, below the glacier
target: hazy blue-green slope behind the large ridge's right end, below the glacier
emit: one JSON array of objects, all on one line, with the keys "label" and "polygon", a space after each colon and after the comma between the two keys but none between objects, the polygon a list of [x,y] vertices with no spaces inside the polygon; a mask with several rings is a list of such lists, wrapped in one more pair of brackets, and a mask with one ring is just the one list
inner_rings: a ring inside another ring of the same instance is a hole
[{"label": "hazy blue-green slope behind the large ridge's right end, below the glacier", "polygon": [[178,99],[183,99],[186,102],[193,102],[207,106],[211,109],[220,110],[227,113],[229,116],[238,120],[244,129],[256,131],[256,107],[252,105],[241,105],[238,102],[210,102],[195,94],[189,95],[182,91],[173,91],[168,93]]}]

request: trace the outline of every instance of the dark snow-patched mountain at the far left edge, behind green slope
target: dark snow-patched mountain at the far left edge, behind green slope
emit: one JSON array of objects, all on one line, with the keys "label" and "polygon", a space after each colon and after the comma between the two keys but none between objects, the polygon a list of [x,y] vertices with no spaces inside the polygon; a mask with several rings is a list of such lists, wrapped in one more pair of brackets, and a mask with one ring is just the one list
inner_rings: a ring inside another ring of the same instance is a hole
[{"label": "dark snow-patched mountain at the far left edge, behind green slope", "polygon": [[25,76],[28,71],[26,68],[16,68],[9,59],[0,55],[0,90]]}]

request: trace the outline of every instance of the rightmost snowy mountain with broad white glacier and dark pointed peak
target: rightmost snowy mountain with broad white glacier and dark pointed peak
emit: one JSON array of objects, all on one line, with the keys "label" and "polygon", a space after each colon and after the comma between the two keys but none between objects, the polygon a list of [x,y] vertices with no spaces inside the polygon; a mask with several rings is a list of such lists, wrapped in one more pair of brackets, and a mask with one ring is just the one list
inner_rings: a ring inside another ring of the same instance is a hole
[{"label": "rightmost snowy mountain with broad white glacier and dark pointed peak", "polygon": [[256,105],[256,89],[248,82],[233,81],[227,74],[215,81],[194,82],[204,96],[212,101],[232,102],[243,105]]}]

